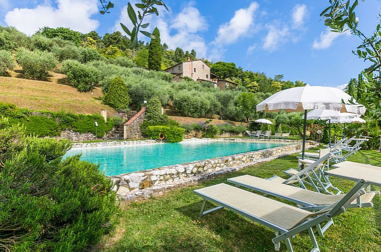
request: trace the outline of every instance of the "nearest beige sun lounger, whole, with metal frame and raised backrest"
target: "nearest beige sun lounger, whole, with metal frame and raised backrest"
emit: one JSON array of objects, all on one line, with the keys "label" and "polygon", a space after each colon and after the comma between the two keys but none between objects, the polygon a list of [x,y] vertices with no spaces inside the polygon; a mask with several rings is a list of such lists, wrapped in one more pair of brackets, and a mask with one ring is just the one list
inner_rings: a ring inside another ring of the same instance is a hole
[{"label": "nearest beige sun lounger, whole, with metal frame and raised backrest", "polygon": [[[275,230],[276,236],[272,239],[275,250],[279,250],[280,242],[284,241],[289,252],[293,251],[290,239],[296,234],[308,231],[313,245],[311,251],[317,252],[319,246],[312,228],[345,212],[344,206],[348,202],[352,202],[365,193],[362,189],[365,183],[364,180],[359,181],[342,199],[315,213],[223,183],[194,192],[204,199],[200,218],[225,207]],[[218,206],[204,211],[207,200]]]}]

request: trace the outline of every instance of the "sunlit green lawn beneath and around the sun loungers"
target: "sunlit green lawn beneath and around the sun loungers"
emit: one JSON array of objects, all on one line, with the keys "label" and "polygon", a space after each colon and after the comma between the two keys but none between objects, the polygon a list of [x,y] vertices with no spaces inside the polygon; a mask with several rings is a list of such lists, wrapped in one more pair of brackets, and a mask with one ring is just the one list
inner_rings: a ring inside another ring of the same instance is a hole
[{"label": "sunlit green lawn beneath and around the sun loungers", "polygon": [[[360,151],[350,160],[381,166],[381,154],[375,151]],[[262,178],[281,175],[282,170],[296,165],[296,155],[285,156],[129,205],[122,213],[114,237],[105,239],[96,250],[274,251],[272,230],[226,209],[199,219],[202,200],[193,190],[226,183],[227,178],[244,174]],[[345,191],[354,185],[354,182],[341,179],[331,178],[331,181]],[[321,251],[381,251],[381,197],[376,196],[373,202],[373,208],[348,209],[335,218],[335,226],[324,233],[325,237],[316,235]],[[297,235],[292,244],[295,251],[312,248],[307,232]],[[283,243],[281,251],[285,251]]]}]

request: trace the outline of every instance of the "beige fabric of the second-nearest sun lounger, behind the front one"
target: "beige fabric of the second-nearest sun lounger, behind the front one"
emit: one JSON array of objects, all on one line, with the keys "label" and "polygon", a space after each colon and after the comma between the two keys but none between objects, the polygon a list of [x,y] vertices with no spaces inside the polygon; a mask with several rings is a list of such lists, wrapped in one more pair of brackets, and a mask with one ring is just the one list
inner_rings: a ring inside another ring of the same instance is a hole
[{"label": "beige fabric of the second-nearest sun lounger, behind the front one", "polygon": [[[261,179],[250,175],[243,175],[240,177],[231,178],[229,179],[229,181],[235,181],[238,183],[265,190],[267,192],[273,192],[278,195],[287,196],[314,205],[330,205],[337,202],[338,200],[341,200],[345,196],[345,194],[328,195],[318,193],[300,187],[279,184],[277,182]],[[360,196],[360,200],[362,203],[370,202],[373,199],[374,195],[374,192],[363,194]],[[354,200],[352,203],[356,203],[356,200]]]}]

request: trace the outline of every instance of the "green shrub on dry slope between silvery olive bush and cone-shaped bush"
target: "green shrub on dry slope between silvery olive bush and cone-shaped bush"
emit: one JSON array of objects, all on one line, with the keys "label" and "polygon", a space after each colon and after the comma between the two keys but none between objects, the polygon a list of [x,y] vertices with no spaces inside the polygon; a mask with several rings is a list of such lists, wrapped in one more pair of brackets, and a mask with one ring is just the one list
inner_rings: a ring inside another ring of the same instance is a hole
[{"label": "green shrub on dry slope between silvery olive bush and cone-shaped bush", "polygon": [[97,68],[84,65],[76,60],[62,62],[61,71],[66,74],[69,82],[80,92],[90,91],[100,80]]}]

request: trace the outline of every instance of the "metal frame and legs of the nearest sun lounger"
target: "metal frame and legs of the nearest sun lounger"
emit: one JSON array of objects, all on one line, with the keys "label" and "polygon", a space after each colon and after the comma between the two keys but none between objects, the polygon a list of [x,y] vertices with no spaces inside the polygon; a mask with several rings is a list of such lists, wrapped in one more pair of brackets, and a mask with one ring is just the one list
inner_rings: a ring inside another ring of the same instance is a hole
[{"label": "metal frame and legs of the nearest sun lounger", "polygon": [[[358,197],[361,194],[365,193],[364,190],[360,190],[364,186],[365,183],[366,183],[365,180],[360,180],[359,182],[356,183],[356,185],[340,201],[338,201],[335,204],[332,204],[331,208],[329,209],[328,212],[322,213],[321,215],[318,215],[319,212],[317,212],[317,217],[314,217],[311,220],[306,220],[303,223],[293,227],[290,230],[281,228],[281,227],[279,227],[277,225],[274,225],[274,224],[272,224],[270,222],[267,222],[267,221],[265,221],[265,220],[263,220],[261,218],[258,218],[258,217],[255,217],[253,215],[250,215],[249,213],[241,211],[240,209],[237,209],[234,206],[231,206],[231,205],[228,205],[228,204],[224,204],[224,203],[220,202],[218,199],[215,199],[215,198],[203,195],[203,194],[198,193],[196,191],[195,191],[195,193],[197,195],[199,195],[199,196],[204,198],[204,201],[203,201],[203,204],[202,204],[202,207],[201,207],[201,211],[200,211],[200,216],[199,216],[200,218],[202,218],[204,215],[213,213],[213,212],[217,211],[218,209],[227,208],[227,209],[229,209],[229,210],[231,210],[231,211],[233,211],[233,212],[235,212],[237,214],[245,216],[246,218],[248,218],[250,220],[253,220],[253,221],[255,221],[255,222],[259,223],[259,224],[262,224],[262,225],[264,225],[264,226],[266,226],[268,228],[271,228],[272,230],[275,230],[276,236],[275,236],[275,238],[272,239],[272,242],[275,245],[275,250],[279,250],[279,248],[280,248],[280,242],[284,241],[284,243],[285,243],[285,245],[287,247],[287,250],[289,252],[293,252],[294,251],[294,249],[293,249],[293,247],[291,245],[290,238],[292,238],[293,236],[295,236],[295,235],[297,235],[297,234],[307,230],[309,235],[310,235],[311,242],[312,242],[312,245],[313,245],[313,248],[312,248],[312,250],[310,250],[310,252],[318,252],[318,251],[320,251],[319,250],[319,245],[317,244],[315,235],[314,235],[314,233],[312,231],[312,227],[316,227],[316,226],[320,225],[320,223],[329,221],[333,217],[335,217],[335,216],[345,212],[344,205],[345,205],[345,203],[347,201],[349,201],[352,198],[354,198],[354,196],[356,194],[357,194],[356,197]],[[209,209],[208,211],[204,212],[204,208],[205,208],[207,200],[209,200],[209,201],[211,201],[211,202],[213,202],[213,203],[215,203],[215,204],[217,204],[219,206],[214,207],[214,208]],[[320,211],[322,211],[322,210],[320,210]]]}]

